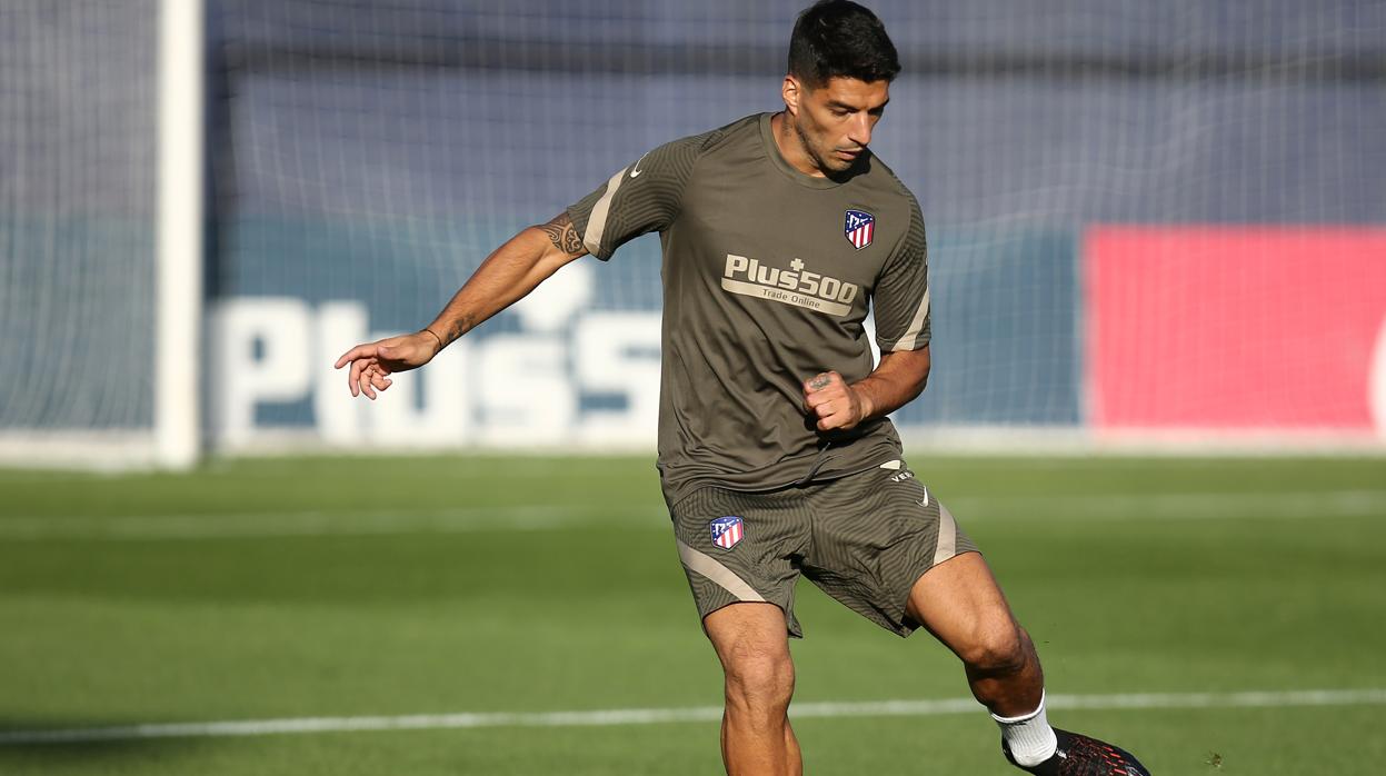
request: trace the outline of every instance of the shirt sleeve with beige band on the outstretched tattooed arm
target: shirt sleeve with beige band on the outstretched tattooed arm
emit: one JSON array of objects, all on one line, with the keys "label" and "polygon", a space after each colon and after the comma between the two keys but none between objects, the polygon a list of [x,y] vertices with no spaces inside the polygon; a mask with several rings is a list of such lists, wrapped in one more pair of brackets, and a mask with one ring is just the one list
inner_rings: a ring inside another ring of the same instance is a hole
[{"label": "shirt sleeve with beige band on the outstretched tattooed arm", "polygon": [[631,240],[668,229],[705,141],[700,134],[665,143],[570,205],[568,218],[588,252],[606,261]]}]

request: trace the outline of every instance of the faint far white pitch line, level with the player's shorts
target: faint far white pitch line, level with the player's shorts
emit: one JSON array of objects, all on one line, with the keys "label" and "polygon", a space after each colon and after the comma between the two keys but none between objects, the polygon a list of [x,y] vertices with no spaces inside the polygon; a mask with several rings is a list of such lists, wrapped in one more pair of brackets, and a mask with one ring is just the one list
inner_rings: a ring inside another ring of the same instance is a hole
[{"label": "faint far white pitch line, level with the player's shorts", "polygon": [[[1386,517],[1386,491],[1293,491],[1257,493],[1094,493],[1082,496],[962,496],[948,499],[960,520],[1295,520]],[[267,511],[247,514],[58,515],[0,518],[0,539],[147,540],[240,539],[274,536],[355,536],[381,534],[457,534],[471,531],[547,531],[620,522],[622,528],[663,529],[658,504],[554,504],[409,510],[398,513]]]}]

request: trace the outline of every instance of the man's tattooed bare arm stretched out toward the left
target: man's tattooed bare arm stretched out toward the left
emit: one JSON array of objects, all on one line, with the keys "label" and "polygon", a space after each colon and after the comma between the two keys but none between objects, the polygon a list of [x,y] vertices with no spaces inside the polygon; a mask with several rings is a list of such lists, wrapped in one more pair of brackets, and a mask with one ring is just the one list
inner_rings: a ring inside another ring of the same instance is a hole
[{"label": "man's tattooed bare arm stretched out toward the left", "polygon": [[534,291],[563,265],[586,255],[572,219],[559,213],[549,223],[531,226],[496,248],[426,328],[356,345],[337,359],[337,369],[351,364],[346,385],[352,396],[389,388],[389,376],[419,369],[453,340]]}]

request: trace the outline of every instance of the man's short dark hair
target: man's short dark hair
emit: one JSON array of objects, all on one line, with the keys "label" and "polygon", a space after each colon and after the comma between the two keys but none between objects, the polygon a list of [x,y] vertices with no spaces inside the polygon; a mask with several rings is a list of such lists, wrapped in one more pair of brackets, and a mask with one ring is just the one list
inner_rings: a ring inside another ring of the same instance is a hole
[{"label": "man's short dark hair", "polygon": [[894,80],[900,55],[876,14],[851,0],[819,0],[794,22],[789,73],[809,87],[837,76]]}]

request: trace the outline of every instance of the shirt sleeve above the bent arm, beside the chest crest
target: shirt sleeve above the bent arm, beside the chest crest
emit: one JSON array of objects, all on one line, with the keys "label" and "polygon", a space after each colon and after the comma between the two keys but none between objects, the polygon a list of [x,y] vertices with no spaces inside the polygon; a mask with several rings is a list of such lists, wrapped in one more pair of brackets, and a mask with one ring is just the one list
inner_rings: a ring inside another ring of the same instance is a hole
[{"label": "shirt sleeve above the bent arm, beside the chest crest", "polygon": [[876,281],[876,344],[883,353],[929,345],[929,249],[924,216],[911,197],[909,230]]}]

